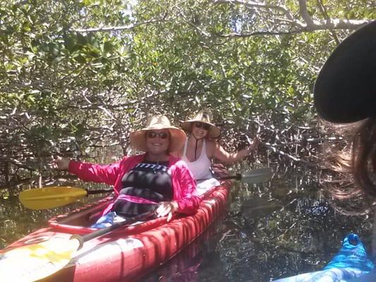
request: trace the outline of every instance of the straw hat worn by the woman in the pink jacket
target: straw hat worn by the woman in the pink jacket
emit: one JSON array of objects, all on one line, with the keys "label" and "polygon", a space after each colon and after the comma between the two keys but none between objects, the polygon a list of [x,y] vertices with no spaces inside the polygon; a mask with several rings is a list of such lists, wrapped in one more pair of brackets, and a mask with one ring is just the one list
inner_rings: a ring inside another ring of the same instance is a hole
[{"label": "straw hat worn by the woman in the pink jacket", "polygon": [[131,145],[142,152],[147,152],[146,132],[148,130],[167,129],[170,133],[169,152],[180,151],[186,142],[186,133],[183,130],[172,126],[169,118],[162,115],[154,115],[147,119],[146,127],[133,131],[129,135]]}]

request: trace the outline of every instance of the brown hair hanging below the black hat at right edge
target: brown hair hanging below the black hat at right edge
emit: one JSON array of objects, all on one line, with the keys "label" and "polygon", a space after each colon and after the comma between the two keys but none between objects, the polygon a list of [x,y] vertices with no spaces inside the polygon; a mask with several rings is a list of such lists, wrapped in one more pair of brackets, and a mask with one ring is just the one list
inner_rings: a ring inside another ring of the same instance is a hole
[{"label": "brown hair hanging below the black hat at right edge", "polygon": [[351,204],[358,206],[338,208],[334,203],[344,214],[364,214],[376,199],[376,118],[334,127],[344,141],[325,152],[328,168],[336,174],[336,180],[328,180],[325,185],[327,192],[334,199],[353,200]]}]

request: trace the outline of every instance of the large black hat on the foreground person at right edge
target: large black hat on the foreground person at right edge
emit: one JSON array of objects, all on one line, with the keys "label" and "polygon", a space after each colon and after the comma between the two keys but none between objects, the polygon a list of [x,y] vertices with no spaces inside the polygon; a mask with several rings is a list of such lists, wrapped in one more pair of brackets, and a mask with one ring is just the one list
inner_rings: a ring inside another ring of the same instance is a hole
[{"label": "large black hat on the foreground person at right edge", "polygon": [[333,51],[314,87],[318,114],[351,123],[376,114],[376,21],[360,27]]}]

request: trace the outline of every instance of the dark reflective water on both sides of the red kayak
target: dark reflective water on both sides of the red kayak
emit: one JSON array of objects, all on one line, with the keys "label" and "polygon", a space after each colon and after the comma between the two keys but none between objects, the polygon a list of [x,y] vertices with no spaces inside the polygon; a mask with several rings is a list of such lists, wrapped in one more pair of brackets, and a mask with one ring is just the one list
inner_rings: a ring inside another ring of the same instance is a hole
[{"label": "dark reflective water on both sides of the red kayak", "polygon": [[[234,185],[222,218],[142,281],[272,281],[321,269],[348,233],[370,246],[372,219],[335,212],[320,192],[317,171],[274,171],[267,183]],[[83,202],[30,212],[16,197],[0,200],[0,247]]]}]

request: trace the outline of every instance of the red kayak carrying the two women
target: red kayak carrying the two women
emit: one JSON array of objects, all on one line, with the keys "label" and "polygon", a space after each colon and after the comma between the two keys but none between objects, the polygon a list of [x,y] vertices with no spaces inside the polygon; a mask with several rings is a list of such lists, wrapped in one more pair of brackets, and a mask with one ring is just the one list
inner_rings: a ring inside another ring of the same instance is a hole
[{"label": "red kayak carrying the two women", "polygon": [[[138,281],[183,250],[217,219],[224,211],[230,186],[231,182],[225,181],[205,193],[193,216],[176,217],[168,223],[165,218],[152,219],[88,240],[66,266],[43,281]],[[47,228],[25,236],[1,253],[52,238],[69,240],[73,234],[92,233],[95,229],[85,226],[94,223],[112,200],[107,197],[56,216]]]}]

